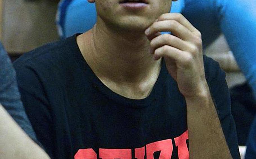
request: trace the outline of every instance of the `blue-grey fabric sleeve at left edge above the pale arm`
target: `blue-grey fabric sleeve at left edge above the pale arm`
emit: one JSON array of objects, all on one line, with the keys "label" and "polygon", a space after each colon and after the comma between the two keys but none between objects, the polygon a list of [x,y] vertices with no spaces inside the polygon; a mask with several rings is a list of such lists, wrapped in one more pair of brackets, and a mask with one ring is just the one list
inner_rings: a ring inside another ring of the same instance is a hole
[{"label": "blue-grey fabric sleeve at left edge above the pale arm", "polygon": [[20,98],[16,73],[11,60],[0,43],[0,103],[19,126],[37,142],[35,132],[28,120]]}]

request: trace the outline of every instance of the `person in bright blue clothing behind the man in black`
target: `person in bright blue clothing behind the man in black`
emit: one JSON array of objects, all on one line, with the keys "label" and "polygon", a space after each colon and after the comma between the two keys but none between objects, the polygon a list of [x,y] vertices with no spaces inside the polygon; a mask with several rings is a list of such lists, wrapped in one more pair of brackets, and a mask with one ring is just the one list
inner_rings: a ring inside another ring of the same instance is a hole
[{"label": "person in bright blue clothing behind the man in black", "polygon": [[[171,12],[183,14],[201,32],[203,48],[221,33],[225,35],[248,81],[230,90],[239,145],[245,145],[256,113],[255,0],[179,0],[173,3]],[[56,21],[60,38],[86,32],[96,22],[95,4],[85,0],[62,0]]]}]

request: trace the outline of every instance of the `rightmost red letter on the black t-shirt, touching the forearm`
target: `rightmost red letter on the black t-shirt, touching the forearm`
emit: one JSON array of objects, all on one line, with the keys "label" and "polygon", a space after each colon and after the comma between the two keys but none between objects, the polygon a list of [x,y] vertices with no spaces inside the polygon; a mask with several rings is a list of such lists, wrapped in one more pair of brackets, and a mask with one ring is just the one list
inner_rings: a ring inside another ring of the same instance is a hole
[{"label": "rightmost red letter on the black t-shirt, touching the forearm", "polygon": [[174,138],[176,146],[178,146],[179,159],[189,159],[189,152],[186,140],[188,139],[188,130],[179,137]]}]

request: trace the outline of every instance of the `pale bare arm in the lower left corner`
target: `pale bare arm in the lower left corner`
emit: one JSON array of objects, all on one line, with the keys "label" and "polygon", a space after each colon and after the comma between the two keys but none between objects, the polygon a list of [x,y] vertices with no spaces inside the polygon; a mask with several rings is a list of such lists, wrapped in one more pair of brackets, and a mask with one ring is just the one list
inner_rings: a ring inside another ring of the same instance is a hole
[{"label": "pale bare arm in the lower left corner", "polygon": [[44,150],[15,123],[1,104],[0,119],[0,158],[50,159]]}]

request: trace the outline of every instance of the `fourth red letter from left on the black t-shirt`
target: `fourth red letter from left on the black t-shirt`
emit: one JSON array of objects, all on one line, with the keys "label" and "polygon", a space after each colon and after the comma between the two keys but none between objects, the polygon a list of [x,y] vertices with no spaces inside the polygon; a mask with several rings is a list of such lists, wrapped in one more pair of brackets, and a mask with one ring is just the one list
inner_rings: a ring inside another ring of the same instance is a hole
[{"label": "fourth red letter from left on the black t-shirt", "polygon": [[153,142],[146,145],[147,159],[154,159],[154,152],[161,151],[159,159],[170,159],[172,157],[172,139]]}]

